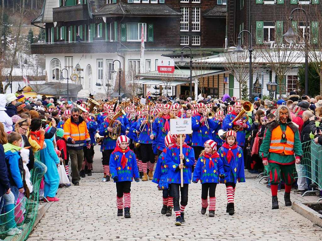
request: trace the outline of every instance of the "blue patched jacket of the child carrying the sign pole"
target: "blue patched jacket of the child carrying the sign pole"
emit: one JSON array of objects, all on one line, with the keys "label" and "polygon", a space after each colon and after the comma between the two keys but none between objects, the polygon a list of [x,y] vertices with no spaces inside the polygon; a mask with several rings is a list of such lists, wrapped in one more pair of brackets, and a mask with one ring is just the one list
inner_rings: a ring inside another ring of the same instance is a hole
[{"label": "blue patched jacket of the child carrying the sign pole", "polygon": [[[191,167],[194,165],[194,149],[190,146],[183,146],[182,153],[185,155],[184,169],[183,169],[183,182],[190,184],[191,182]],[[181,183],[180,178],[180,146],[170,146],[166,151],[166,165],[168,166],[168,182]]]}]

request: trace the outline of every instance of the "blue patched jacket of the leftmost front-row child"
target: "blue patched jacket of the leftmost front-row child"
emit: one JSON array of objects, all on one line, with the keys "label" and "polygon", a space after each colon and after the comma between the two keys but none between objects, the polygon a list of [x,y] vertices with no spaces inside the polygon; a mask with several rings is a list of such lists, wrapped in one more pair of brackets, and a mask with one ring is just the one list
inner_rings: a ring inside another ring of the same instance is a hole
[{"label": "blue patched jacket of the leftmost front-row child", "polygon": [[114,151],[109,158],[109,168],[112,178],[117,176],[118,181],[133,181],[133,178],[139,178],[137,160],[134,152],[132,150],[129,150],[127,153],[125,153],[127,162],[124,169],[121,165],[122,155],[122,152]]}]

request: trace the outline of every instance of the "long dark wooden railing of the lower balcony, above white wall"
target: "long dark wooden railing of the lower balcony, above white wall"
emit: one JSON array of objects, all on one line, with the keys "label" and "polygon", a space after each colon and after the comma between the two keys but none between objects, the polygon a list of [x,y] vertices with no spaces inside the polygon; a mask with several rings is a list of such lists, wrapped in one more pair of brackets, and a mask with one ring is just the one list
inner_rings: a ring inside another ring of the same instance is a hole
[{"label": "long dark wooden railing of the lower balcony, above white wall", "polygon": [[117,48],[118,42],[113,40],[33,43],[31,44],[31,53],[113,53],[117,51]]}]

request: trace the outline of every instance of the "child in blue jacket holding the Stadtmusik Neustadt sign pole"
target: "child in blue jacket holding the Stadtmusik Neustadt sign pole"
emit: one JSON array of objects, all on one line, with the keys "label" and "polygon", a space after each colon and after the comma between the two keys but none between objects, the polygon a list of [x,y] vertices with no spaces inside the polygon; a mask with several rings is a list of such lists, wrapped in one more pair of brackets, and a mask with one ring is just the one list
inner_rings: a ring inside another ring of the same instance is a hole
[{"label": "child in blue jacket holding the Stadtmusik Neustadt sign pole", "polygon": [[[184,137],[183,137],[184,138]],[[181,226],[185,222],[185,206],[188,204],[188,189],[191,182],[191,167],[194,165],[194,149],[186,143],[182,145],[180,154],[180,135],[173,135],[173,143],[166,151],[166,165],[168,166],[168,182],[171,185],[173,195],[173,209],[175,211],[175,225]],[[183,164],[180,164],[180,159]],[[181,187],[180,169],[183,169],[183,187]],[[181,202],[179,206],[179,188],[181,193]]]}]

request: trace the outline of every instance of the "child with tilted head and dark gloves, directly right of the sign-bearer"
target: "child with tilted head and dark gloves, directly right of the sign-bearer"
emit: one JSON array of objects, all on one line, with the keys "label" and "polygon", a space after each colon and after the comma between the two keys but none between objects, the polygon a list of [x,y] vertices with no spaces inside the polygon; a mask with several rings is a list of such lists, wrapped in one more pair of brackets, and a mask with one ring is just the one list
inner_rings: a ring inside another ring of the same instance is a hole
[{"label": "child with tilted head and dark gloves, directly right of the sign-bearer", "polygon": [[217,145],[213,140],[204,143],[204,151],[201,152],[194,169],[193,182],[201,183],[201,214],[205,214],[208,207],[209,190],[209,217],[215,216],[216,210],[216,186],[219,178],[224,178],[223,162],[217,153]]}]

